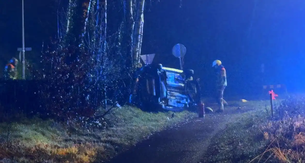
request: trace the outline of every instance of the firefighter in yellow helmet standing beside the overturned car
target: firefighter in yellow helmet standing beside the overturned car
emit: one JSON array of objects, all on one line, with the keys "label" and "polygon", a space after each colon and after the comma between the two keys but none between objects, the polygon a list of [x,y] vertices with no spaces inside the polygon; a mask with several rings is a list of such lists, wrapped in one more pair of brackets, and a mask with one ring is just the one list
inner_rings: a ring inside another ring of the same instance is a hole
[{"label": "firefighter in yellow helmet standing beside the overturned car", "polygon": [[217,95],[217,102],[219,104],[219,109],[217,112],[223,112],[224,111],[224,89],[227,86],[227,73],[224,69],[224,66],[221,64],[220,60],[214,60],[212,67],[215,67],[216,70],[216,95]]}]

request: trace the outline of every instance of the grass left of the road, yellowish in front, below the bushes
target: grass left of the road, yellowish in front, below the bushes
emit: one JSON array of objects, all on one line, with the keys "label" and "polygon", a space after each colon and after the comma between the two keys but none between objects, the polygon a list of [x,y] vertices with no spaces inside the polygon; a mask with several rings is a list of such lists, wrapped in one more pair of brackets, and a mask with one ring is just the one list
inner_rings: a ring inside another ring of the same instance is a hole
[{"label": "grass left of the road, yellowish in front, below the bushes", "polygon": [[[124,147],[137,143],[169,125],[194,113],[148,113],[134,107],[115,108],[107,115],[112,127],[88,130],[67,127],[55,121],[24,119],[22,122],[0,124],[0,160],[16,162],[88,163],[106,160]],[[1,161],[0,161],[1,162]]]}]

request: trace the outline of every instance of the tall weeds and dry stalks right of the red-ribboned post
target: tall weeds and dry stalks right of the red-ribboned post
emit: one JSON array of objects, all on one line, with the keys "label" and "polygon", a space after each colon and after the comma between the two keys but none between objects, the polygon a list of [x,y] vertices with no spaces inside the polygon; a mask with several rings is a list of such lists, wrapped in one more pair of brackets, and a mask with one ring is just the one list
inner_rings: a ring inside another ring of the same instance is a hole
[{"label": "tall weeds and dry stalks right of the red-ribboned post", "polygon": [[269,141],[262,154],[264,161],[302,162],[305,160],[305,98],[282,101],[276,109],[276,121],[260,125],[264,139]]}]

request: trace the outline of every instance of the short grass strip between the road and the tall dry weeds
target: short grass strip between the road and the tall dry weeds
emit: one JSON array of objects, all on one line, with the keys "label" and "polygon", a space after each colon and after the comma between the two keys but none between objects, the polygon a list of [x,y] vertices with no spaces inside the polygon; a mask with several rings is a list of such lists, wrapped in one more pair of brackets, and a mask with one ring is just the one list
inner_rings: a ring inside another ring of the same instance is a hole
[{"label": "short grass strip between the road and the tall dry weeds", "polygon": [[256,110],[243,113],[240,118],[226,125],[221,133],[212,138],[209,150],[200,163],[248,162],[264,151],[268,141],[260,129],[267,121],[267,102],[250,102]]}]

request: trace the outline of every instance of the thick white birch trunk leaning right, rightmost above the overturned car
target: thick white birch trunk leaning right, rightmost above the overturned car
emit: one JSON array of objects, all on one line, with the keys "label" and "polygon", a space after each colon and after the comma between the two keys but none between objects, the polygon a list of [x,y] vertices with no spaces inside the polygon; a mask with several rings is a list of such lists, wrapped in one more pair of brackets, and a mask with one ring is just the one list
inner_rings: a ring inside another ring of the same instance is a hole
[{"label": "thick white birch trunk leaning right, rightmost above the overturned car", "polygon": [[144,24],[144,4],[145,0],[139,0],[136,12],[135,31],[134,31],[134,45],[133,45],[133,69],[140,62],[143,24]]}]

